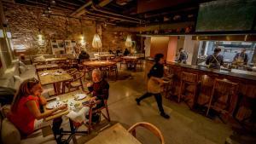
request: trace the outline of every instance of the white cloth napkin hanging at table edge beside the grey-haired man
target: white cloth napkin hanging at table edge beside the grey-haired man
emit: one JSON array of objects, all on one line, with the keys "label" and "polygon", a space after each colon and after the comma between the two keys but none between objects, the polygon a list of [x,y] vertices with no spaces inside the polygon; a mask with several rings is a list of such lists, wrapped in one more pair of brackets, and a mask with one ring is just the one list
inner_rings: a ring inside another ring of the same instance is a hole
[{"label": "white cloth napkin hanging at table edge beside the grey-haired man", "polygon": [[83,107],[79,112],[71,111],[67,114],[67,118],[72,119],[76,123],[85,123],[85,115],[88,114],[90,107]]}]

